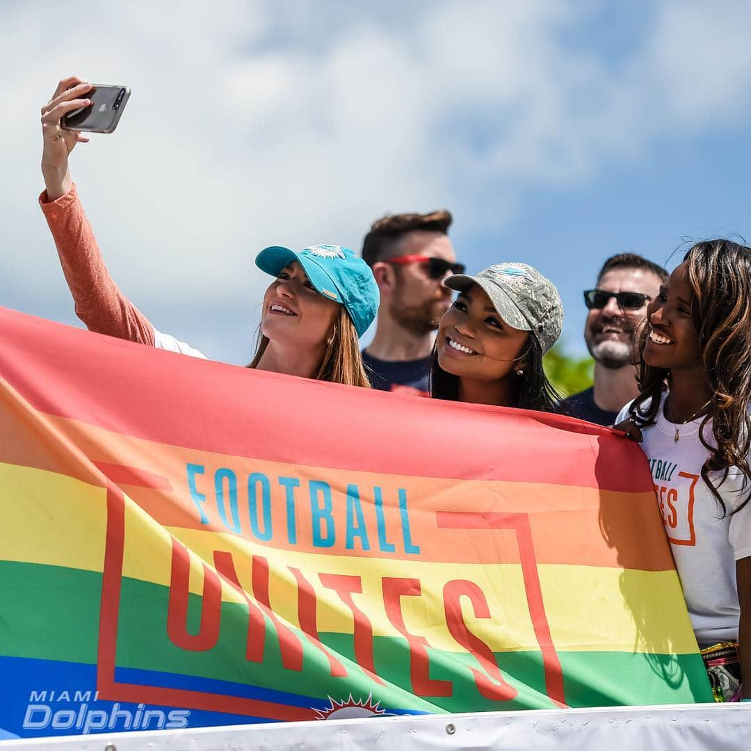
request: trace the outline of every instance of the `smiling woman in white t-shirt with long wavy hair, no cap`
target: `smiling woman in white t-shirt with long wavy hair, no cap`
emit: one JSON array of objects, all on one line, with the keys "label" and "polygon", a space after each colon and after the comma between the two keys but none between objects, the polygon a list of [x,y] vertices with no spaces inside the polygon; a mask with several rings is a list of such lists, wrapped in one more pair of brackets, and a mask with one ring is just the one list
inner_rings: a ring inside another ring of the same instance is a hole
[{"label": "smiling woman in white t-shirt with long wavy hair, no cap", "polygon": [[693,246],[639,348],[641,394],[618,427],[647,454],[715,696],[751,701],[751,249]]}]

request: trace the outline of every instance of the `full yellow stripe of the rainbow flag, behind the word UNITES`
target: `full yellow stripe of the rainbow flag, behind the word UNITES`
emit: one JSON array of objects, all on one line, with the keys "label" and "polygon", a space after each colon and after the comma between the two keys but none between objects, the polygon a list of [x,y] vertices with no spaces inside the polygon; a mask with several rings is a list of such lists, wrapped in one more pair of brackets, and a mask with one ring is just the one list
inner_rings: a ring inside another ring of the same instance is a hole
[{"label": "full yellow stripe of the rainbow flag, behind the word UNITES", "polygon": [[[0,463],[0,487],[9,498],[0,525],[0,550],[7,560],[101,571],[104,559],[106,502],[103,488],[23,466]],[[29,534],[20,533],[27,529]],[[367,611],[375,635],[398,635],[386,617],[382,599],[384,577],[415,578],[423,593],[440,592],[448,581],[463,579],[480,587],[490,620],[475,618],[463,598],[463,620],[493,651],[535,649],[520,566],[511,564],[445,564],[399,559],[365,559],[325,553],[297,553],[254,545],[237,535],[192,529],[165,529],[132,502],[125,514],[125,576],[169,586],[170,532],[207,563],[213,551],[234,556],[241,584],[250,592],[250,558],[264,556],[270,566],[270,602],[280,617],[298,626],[297,583],[289,566],[300,569],[318,600],[320,632],[351,633],[352,617],[319,573],[358,575],[362,594],[354,602]],[[199,559],[191,556],[191,590],[201,593]],[[681,602],[677,575],[602,566],[538,566],[541,592],[559,650],[605,650],[649,653],[692,653],[692,630]],[[587,597],[581,597],[587,593]],[[222,587],[226,602],[245,602],[234,589]],[[572,605],[573,603],[573,605]],[[427,595],[403,597],[406,626],[424,635],[433,647],[463,651],[445,623],[443,603]],[[586,643],[585,643],[586,641]]]}]

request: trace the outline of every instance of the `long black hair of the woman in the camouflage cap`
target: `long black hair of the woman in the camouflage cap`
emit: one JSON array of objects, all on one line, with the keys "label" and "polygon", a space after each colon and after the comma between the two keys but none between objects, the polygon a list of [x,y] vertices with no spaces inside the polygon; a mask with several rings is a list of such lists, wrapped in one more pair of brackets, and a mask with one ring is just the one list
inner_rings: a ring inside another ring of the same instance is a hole
[{"label": "long black hair of the woman in the camouflage cap", "polygon": [[[535,409],[537,412],[559,412],[562,397],[547,380],[542,367],[542,348],[533,334],[529,335],[526,350],[521,355],[524,372],[519,376],[519,409]],[[433,399],[459,401],[459,376],[446,372],[438,363],[438,347],[433,345],[430,363],[430,396]]]}]

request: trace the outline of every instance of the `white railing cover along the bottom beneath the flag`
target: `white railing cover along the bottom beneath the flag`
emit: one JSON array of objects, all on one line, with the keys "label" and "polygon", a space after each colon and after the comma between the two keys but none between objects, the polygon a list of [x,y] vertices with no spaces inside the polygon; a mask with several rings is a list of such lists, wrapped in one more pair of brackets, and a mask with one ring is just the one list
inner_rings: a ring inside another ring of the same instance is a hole
[{"label": "white railing cover along the bottom beneath the flag", "polygon": [[0,751],[749,751],[749,704],[524,710],[3,740]]}]

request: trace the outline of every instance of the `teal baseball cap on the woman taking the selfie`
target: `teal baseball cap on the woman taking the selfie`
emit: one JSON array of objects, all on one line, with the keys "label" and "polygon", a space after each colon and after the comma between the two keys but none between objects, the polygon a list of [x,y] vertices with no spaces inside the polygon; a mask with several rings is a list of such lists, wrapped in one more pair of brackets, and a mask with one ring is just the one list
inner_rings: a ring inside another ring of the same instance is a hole
[{"label": "teal baseball cap on the woman taking the selfie", "polygon": [[297,252],[273,245],[255,257],[255,265],[271,276],[279,276],[292,261],[303,267],[318,294],[345,307],[357,336],[362,336],[375,319],[381,301],[368,264],[338,245],[312,245]]}]

